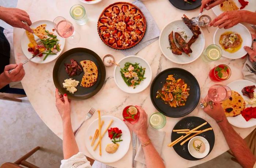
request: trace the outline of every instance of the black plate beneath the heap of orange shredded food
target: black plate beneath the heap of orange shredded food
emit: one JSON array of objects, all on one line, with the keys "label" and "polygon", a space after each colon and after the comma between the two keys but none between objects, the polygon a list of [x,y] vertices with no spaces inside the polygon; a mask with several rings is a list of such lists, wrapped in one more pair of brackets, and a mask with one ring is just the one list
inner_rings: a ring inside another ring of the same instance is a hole
[{"label": "black plate beneath the heap of orange shredded food", "polygon": [[[168,104],[165,104],[162,99],[156,98],[157,91],[162,89],[168,75],[174,75],[175,79],[181,78],[188,84],[190,91],[185,106],[176,108],[170,107]],[[159,112],[168,117],[183,117],[196,108],[200,99],[200,87],[196,78],[187,70],[181,68],[169,68],[160,72],[153,80],[150,88],[150,97],[152,103]]]}]

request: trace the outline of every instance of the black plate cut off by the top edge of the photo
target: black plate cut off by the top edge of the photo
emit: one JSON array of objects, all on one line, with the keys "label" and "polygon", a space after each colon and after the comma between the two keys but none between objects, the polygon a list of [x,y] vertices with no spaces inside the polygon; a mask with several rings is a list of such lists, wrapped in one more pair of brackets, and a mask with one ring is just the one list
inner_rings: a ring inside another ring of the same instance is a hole
[{"label": "black plate cut off by the top edge of the photo", "polygon": [[184,2],[184,0],[169,0],[169,1],[170,3],[172,3],[174,7],[181,10],[186,10],[186,11],[196,9],[201,6],[201,0],[196,0],[195,2],[193,2],[192,0],[189,0],[189,2],[192,3],[192,5],[187,2]]}]

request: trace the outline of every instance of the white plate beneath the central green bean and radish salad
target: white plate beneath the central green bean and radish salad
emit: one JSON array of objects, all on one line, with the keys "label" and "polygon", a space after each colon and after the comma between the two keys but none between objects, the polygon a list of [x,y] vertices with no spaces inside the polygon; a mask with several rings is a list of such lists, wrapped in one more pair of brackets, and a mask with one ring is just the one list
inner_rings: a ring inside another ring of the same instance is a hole
[{"label": "white plate beneath the central green bean and radish salad", "polygon": [[[124,64],[126,62],[131,62],[132,64],[137,62],[140,66],[142,66],[142,68],[146,68],[145,74],[144,74],[144,77],[146,77],[146,79],[141,81],[139,85],[136,85],[135,89],[133,89],[133,87],[129,87],[124,82],[124,80],[121,76],[120,70],[121,70],[121,68],[124,68]],[[150,65],[147,63],[146,60],[144,60],[143,58],[138,57],[138,56],[128,56],[128,57],[124,57],[123,59],[121,59],[118,62],[118,64],[120,66],[116,66],[114,69],[114,80],[115,80],[118,88],[120,88],[122,91],[127,92],[127,93],[139,93],[139,92],[144,91],[148,87],[148,85],[150,84],[151,79],[152,79],[152,71],[151,71]]]}]

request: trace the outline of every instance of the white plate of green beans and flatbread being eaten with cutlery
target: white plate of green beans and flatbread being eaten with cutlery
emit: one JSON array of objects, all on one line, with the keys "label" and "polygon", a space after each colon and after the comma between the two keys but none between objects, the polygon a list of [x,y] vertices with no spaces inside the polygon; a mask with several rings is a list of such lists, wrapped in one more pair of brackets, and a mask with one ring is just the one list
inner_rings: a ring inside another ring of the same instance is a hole
[{"label": "white plate of green beans and flatbread being eaten with cutlery", "polygon": [[[38,20],[33,22],[30,28],[34,30],[34,33],[28,34],[28,32],[24,31],[21,39],[22,51],[28,59],[31,58],[33,54],[42,53],[31,61],[38,64],[45,64],[60,56],[64,49],[65,38],[57,34],[52,21]],[[41,39],[44,48],[36,46],[34,40],[37,39],[37,37]]]}]

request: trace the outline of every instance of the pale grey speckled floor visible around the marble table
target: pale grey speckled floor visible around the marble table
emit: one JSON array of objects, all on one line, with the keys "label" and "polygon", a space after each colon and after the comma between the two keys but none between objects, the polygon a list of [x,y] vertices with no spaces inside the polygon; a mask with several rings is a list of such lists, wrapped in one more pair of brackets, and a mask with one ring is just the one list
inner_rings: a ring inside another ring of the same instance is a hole
[{"label": "pale grey speckled floor visible around the marble table", "polygon": [[[0,6],[15,7],[17,0],[0,0]],[[0,26],[10,25],[0,20]],[[0,100],[0,165],[13,162],[35,146],[41,146],[28,161],[42,168],[57,168],[62,156],[62,141],[38,117],[27,98],[22,103]],[[224,153],[193,168],[241,168]]]}]

